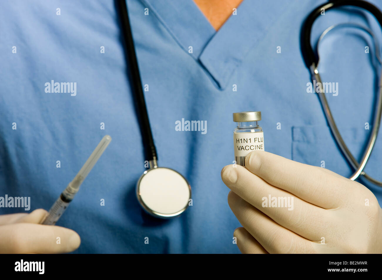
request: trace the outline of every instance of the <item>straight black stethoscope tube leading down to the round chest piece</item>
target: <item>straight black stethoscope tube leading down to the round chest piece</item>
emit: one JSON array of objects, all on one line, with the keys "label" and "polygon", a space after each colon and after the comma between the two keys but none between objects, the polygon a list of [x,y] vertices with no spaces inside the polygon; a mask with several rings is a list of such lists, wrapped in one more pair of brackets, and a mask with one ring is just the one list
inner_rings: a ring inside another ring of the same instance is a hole
[{"label": "straight black stethoscope tube leading down to the round chest piece", "polygon": [[157,150],[154,145],[146,102],[144,100],[141,75],[139,74],[138,60],[135,53],[133,35],[131,34],[126,0],[116,0],[116,2],[118,11],[120,12],[121,31],[125,43],[125,59],[130,69],[132,91],[136,105],[138,122],[141,129],[146,160],[156,161],[158,159]]}]

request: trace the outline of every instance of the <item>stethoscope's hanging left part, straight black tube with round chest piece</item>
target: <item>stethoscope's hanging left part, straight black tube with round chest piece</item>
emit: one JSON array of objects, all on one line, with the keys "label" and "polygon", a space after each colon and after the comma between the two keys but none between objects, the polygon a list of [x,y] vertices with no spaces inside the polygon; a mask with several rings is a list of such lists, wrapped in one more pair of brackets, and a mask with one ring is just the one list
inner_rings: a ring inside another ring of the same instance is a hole
[{"label": "stethoscope's hanging left part, straight black tube with round chest piece", "polygon": [[158,156],[143,95],[126,0],[117,0],[117,8],[120,11],[122,34],[125,41],[125,58],[130,69],[131,90],[134,95],[144,153],[149,163],[149,169],[144,171],[137,182],[136,196],[142,208],[152,216],[159,218],[176,217],[189,206],[191,187],[180,173],[157,165]]}]

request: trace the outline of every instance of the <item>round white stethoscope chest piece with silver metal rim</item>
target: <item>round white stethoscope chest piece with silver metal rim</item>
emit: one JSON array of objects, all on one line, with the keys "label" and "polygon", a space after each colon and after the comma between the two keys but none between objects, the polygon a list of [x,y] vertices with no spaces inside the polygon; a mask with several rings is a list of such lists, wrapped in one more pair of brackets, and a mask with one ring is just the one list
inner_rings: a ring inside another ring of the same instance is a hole
[{"label": "round white stethoscope chest piece with silver metal rim", "polygon": [[191,187],[181,174],[166,167],[145,171],[139,178],[136,195],[142,208],[159,218],[183,213],[191,199]]}]

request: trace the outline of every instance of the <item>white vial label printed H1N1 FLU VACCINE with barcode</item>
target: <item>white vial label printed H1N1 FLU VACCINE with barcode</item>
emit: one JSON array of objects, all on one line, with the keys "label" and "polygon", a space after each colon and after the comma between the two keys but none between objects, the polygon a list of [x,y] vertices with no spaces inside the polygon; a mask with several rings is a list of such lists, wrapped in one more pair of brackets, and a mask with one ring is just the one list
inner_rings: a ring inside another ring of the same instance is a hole
[{"label": "white vial label printed H1N1 FLU VACCINE with barcode", "polygon": [[245,166],[245,157],[251,151],[264,151],[264,132],[239,132],[233,134],[236,164]]}]

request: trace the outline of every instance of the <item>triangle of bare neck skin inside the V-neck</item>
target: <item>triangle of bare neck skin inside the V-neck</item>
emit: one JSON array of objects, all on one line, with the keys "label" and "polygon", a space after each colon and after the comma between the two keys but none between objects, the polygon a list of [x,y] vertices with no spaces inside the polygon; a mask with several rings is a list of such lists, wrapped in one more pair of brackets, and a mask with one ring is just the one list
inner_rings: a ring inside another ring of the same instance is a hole
[{"label": "triangle of bare neck skin inside the V-neck", "polygon": [[194,0],[196,5],[208,19],[216,31],[231,16],[233,8],[237,8],[243,0]]}]

